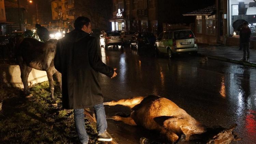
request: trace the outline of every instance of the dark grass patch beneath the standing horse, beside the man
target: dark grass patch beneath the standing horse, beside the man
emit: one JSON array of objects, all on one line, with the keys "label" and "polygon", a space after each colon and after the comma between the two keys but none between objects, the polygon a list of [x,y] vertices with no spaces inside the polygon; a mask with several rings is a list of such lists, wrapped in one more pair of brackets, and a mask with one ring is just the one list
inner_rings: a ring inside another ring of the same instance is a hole
[{"label": "dark grass patch beneath the standing horse, beside the man", "polygon": [[[73,110],[61,107],[61,91],[55,84],[57,106],[51,105],[49,83],[30,88],[33,97],[26,99],[17,88],[0,88],[0,143],[79,143]],[[97,142],[97,130],[85,119],[89,143]]]}]

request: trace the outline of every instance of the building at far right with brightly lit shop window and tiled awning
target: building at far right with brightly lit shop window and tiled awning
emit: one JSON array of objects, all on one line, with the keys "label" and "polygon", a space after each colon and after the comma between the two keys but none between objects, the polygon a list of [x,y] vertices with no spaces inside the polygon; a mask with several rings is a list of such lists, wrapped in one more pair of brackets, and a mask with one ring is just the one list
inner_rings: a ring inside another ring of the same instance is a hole
[{"label": "building at far right with brightly lit shop window and tiled awning", "polygon": [[232,24],[238,19],[248,22],[251,29],[250,48],[256,48],[256,2],[254,0],[216,0],[215,5],[189,12],[195,16],[195,34],[200,43],[239,46],[239,31]]}]

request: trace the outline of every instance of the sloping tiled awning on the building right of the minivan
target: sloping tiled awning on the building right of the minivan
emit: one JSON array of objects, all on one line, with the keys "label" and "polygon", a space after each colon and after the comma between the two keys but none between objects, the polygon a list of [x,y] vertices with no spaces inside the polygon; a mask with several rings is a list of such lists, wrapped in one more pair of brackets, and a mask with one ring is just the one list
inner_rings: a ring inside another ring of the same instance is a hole
[{"label": "sloping tiled awning on the building right of the minivan", "polygon": [[203,9],[199,9],[197,11],[188,12],[186,14],[183,14],[183,16],[197,16],[197,15],[207,15],[211,16],[216,13],[216,5],[211,5]]}]

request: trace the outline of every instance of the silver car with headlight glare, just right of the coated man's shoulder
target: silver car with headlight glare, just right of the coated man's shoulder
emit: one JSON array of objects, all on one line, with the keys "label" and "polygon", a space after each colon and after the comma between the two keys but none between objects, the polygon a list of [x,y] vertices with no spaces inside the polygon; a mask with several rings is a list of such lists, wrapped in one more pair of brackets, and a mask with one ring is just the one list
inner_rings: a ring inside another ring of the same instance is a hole
[{"label": "silver car with headlight glare, just right of the coated man's shoulder", "polygon": [[123,37],[119,32],[116,31],[105,31],[100,36],[100,46],[107,48],[110,45],[122,45]]}]

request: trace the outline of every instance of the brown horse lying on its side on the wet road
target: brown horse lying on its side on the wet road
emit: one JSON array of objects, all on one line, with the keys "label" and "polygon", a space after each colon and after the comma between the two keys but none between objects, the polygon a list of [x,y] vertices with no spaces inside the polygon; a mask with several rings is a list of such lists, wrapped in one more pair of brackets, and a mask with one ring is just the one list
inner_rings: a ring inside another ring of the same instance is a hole
[{"label": "brown horse lying on its side on the wet road", "polygon": [[149,95],[104,103],[110,106],[117,104],[127,106],[133,111],[129,117],[115,115],[111,119],[157,130],[171,143],[201,140],[203,143],[228,144],[233,140],[240,140],[232,132],[235,126],[230,129],[207,129],[186,111],[163,97]]}]

